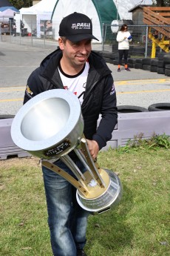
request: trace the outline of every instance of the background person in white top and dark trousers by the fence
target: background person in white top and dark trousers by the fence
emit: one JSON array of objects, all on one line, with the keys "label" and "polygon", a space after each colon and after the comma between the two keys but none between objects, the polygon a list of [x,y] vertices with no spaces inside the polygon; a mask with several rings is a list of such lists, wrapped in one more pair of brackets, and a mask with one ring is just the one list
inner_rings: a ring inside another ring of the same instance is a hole
[{"label": "background person in white top and dark trousers by the fence", "polygon": [[125,70],[130,71],[127,64],[128,53],[129,53],[129,42],[132,42],[132,36],[128,31],[128,26],[123,24],[120,27],[120,31],[118,31],[118,35],[116,37],[116,41],[118,42],[118,72],[120,72],[120,65],[122,65],[122,59],[124,57]]}]

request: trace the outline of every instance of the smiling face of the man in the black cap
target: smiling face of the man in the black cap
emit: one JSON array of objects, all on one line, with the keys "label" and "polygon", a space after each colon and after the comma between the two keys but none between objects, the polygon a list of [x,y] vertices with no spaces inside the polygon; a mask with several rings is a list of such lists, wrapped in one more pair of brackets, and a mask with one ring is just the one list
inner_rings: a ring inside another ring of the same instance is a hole
[{"label": "smiling face of the man in the black cap", "polygon": [[80,42],[71,42],[67,39],[63,42],[60,38],[58,42],[63,51],[64,61],[74,67],[83,66],[92,50],[91,39],[84,39]]}]

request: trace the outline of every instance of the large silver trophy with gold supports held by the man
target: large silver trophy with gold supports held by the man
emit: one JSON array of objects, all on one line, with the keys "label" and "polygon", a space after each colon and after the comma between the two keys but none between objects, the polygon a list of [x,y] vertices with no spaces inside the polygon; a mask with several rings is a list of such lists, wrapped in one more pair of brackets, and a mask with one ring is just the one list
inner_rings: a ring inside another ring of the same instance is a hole
[{"label": "large silver trophy with gold supports held by the man", "polygon": [[[123,188],[118,176],[98,166],[89,153],[83,134],[81,105],[74,93],[63,89],[45,91],[23,105],[13,119],[11,137],[19,148],[41,158],[45,167],[60,174],[77,188],[79,205],[93,214],[116,206]],[[75,151],[84,173],[69,157]],[[74,174],[53,163],[62,160]]]}]

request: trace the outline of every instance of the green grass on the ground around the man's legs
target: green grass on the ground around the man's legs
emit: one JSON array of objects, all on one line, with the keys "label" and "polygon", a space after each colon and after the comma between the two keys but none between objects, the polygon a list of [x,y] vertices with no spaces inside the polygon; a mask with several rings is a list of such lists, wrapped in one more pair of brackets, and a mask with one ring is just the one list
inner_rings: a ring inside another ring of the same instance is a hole
[{"label": "green grass on the ground around the man's legs", "polygon": [[[90,215],[88,256],[170,255],[170,146],[165,136],[156,140],[137,137],[124,148],[100,152],[98,163],[119,175],[123,198],[112,211]],[[52,255],[38,159],[1,160],[0,171],[0,255]]]}]

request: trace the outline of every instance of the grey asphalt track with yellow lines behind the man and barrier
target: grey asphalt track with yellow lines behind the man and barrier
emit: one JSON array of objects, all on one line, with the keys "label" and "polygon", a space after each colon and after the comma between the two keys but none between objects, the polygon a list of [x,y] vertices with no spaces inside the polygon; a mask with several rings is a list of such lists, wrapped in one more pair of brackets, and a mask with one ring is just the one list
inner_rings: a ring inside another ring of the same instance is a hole
[{"label": "grey asphalt track with yellow lines behind the man and barrier", "polygon": [[[96,50],[96,45],[93,48]],[[0,115],[17,113],[28,76],[54,49],[54,45],[43,49],[0,42]],[[115,80],[118,105],[148,108],[151,104],[170,102],[169,76],[134,68],[128,72],[123,67],[118,73],[117,66],[108,66]]]}]

